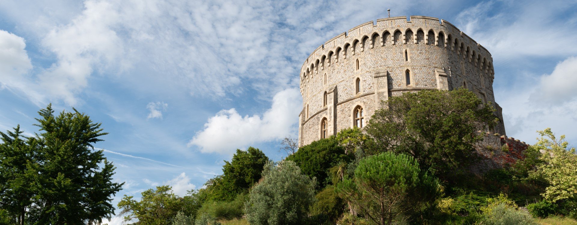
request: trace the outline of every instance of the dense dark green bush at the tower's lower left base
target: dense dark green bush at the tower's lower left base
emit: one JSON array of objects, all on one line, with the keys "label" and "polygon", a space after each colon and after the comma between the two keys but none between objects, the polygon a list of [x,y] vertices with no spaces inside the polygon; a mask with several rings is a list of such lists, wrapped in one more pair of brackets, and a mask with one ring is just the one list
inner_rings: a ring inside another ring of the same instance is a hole
[{"label": "dense dark green bush at the tower's lower left base", "polygon": [[344,148],[339,146],[335,139],[327,138],[300,147],[286,160],[297,163],[302,173],[310,178],[316,177],[319,181],[317,188],[320,190],[331,182],[328,177],[329,169],[340,162],[349,161],[349,157],[344,154]]}]

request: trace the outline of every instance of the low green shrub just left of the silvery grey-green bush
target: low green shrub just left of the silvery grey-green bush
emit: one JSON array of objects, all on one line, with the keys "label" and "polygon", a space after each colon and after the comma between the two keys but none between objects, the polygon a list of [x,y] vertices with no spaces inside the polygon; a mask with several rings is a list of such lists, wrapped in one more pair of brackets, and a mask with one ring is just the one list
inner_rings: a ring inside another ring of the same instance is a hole
[{"label": "low green shrub just left of the silvery grey-green bush", "polygon": [[241,218],[247,194],[238,195],[233,201],[207,201],[198,209],[197,214],[207,214],[217,219]]}]

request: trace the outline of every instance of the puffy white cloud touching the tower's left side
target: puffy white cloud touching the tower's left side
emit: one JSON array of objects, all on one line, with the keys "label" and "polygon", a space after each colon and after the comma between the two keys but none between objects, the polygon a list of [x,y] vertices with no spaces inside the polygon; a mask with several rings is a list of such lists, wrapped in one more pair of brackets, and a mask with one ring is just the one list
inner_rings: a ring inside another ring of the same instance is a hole
[{"label": "puffy white cloud touching the tower's left side", "polygon": [[263,114],[244,116],[237,110],[221,110],[204,124],[189,146],[200,147],[201,152],[232,154],[237,148],[249,144],[284,138],[294,132],[298,113],[302,110],[302,98],[297,89],[286,89],[275,94],[272,106]]}]

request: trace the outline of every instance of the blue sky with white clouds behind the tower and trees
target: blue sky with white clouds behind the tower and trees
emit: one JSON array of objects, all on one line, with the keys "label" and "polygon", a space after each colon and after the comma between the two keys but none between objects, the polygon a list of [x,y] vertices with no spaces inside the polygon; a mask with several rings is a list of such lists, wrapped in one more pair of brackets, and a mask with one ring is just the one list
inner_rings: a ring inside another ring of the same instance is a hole
[{"label": "blue sky with white clouds behind the tower and trees", "polygon": [[577,1],[1,1],[0,130],[32,134],[40,108],[73,106],[110,132],[96,147],[126,182],[115,202],[162,184],[183,195],[237,148],[282,159],[306,57],[387,9],[491,52],[508,136],[551,127],[577,143]]}]

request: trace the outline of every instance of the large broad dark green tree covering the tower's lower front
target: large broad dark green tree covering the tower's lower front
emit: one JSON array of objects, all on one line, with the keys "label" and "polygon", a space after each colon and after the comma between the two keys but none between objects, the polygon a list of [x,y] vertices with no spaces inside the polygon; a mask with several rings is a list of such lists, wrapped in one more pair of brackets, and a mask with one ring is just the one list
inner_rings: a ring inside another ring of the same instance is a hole
[{"label": "large broad dark green tree covering the tower's lower front", "polygon": [[422,90],[391,97],[366,126],[372,152],[394,151],[413,156],[422,169],[447,176],[477,159],[477,131],[496,124],[491,104],[468,89]]}]

